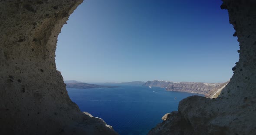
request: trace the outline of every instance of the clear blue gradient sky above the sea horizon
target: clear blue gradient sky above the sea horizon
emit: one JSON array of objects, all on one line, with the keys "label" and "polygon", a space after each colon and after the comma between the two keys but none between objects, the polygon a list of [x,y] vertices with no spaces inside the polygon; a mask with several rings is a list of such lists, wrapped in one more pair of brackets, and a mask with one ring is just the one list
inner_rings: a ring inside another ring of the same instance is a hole
[{"label": "clear blue gradient sky above the sea horizon", "polygon": [[225,82],[239,42],[221,0],[85,0],[58,37],[57,70],[87,83]]}]

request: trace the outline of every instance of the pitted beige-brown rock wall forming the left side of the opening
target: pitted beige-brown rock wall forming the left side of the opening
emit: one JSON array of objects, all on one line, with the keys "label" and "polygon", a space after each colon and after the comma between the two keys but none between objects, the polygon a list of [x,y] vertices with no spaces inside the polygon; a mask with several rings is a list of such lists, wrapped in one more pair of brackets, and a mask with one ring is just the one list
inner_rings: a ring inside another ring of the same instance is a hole
[{"label": "pitted beige-brown rock wall forming the left side of the opening", "polygon": [[0,1],[0,134],[115,135],[82,113],[56,70],[57,37],[82,0]]}]

